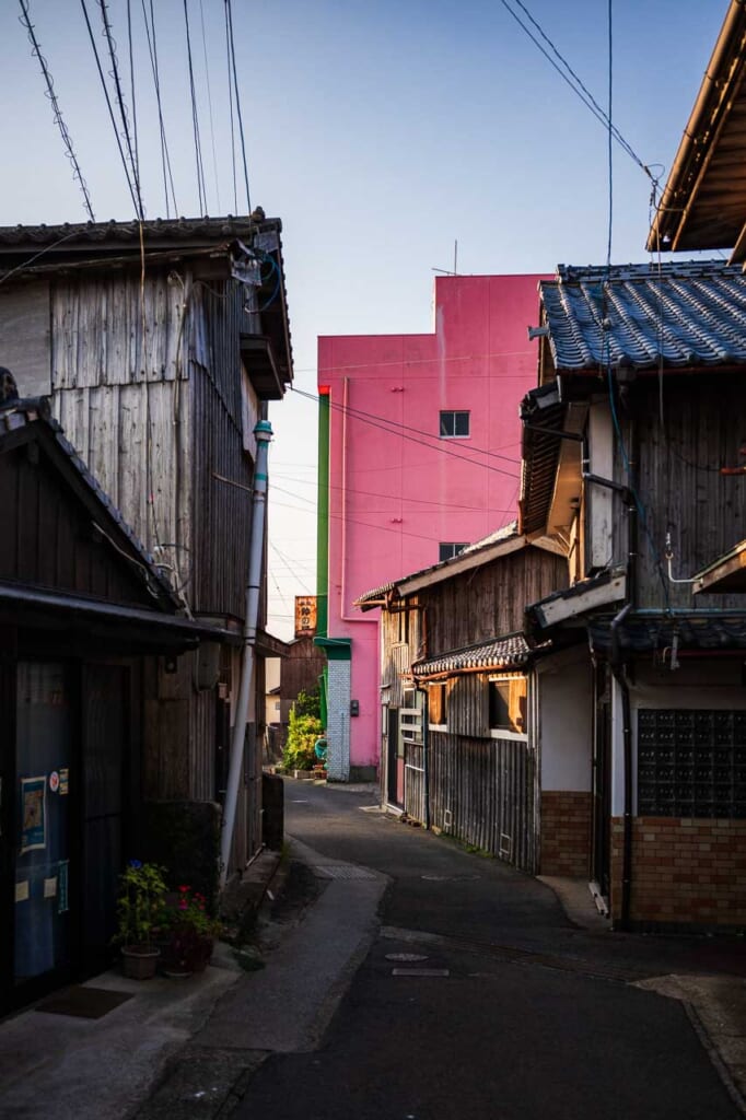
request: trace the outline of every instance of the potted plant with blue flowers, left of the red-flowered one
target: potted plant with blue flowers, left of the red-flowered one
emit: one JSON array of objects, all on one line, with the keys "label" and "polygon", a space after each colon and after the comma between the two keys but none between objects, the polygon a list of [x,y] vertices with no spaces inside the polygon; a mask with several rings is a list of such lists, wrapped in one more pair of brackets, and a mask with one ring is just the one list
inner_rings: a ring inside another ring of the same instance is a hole
[{"label": "potted plant with blue flowers, left of the red-flowered one", "polygon": [[153,934],[160,924],[165,897],[164,868],[131,859],[120,876],[119,927],[114,941],[121,945],[122,971],[132,980],[148,980],[156,974],[159,950],[153,944]]}]

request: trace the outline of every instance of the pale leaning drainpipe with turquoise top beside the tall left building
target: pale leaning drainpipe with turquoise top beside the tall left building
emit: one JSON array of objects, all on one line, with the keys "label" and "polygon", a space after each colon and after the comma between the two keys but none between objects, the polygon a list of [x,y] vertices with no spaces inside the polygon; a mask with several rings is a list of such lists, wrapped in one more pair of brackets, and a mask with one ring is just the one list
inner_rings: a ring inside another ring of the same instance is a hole
[{"label": "pale leaning drainpipe with turquoise top beside the tall left building", "polygon": [[262,558],[264,553],[264,517],[267,512],[267,460],[269,442],[272,438],[272,426],[269,420],[260,420],[254,428],[257,438],[257,465],[254,467],[253,494],[251,501],[251,541],[249,545],[249,579],[246,582],[245,620],[243,624],[243,660],[241,665],[241,684],[233,724],[231,740],[231,765],[229,769],[225,805],[223,806],[223,830],[221,833],[221,887],[227,878],[233,829],[235,828],[235,806],[239,800],[239,786],[243,771],[243,744],[246,736],[249,717],[249,694],[254,669],[254,646],[257,644],[257,623],[259,622],[259,594],[262,577]]}]

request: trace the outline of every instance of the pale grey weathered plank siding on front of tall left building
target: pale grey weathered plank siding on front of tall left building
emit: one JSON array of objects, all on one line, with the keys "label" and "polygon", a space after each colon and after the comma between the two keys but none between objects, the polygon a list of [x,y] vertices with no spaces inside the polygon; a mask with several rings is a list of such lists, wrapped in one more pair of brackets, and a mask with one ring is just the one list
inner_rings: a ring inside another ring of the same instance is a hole
[{"label": "pale grey weathered plank siding on front of tall left building", "polygon": [[139,277],[56,281],[52,392],[66,437],[148,550],[168,545],[166,562],[188,598],[192,410],[184,301],[181,287],[165,273],[147,277],[142,292]]}]

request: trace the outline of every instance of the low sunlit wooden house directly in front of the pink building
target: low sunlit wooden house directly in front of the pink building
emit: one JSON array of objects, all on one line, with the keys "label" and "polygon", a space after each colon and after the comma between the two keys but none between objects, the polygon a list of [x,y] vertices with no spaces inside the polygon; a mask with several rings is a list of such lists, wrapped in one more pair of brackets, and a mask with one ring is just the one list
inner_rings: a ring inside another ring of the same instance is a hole
[{"label": "low sunlit wooden house directly in front of the pink building", "polygon": [[358,599],[382,608],[382,802],[530,872],[549,644],[526,641],[523,612],[566,578],[558,545],[512,525]]}]

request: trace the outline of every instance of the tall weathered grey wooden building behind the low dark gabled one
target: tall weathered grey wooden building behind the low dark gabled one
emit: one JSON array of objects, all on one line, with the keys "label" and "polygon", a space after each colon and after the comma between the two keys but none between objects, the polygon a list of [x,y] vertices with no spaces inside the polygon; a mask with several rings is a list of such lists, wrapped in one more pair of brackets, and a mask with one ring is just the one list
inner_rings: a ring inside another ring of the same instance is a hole
[{"label": "tall weathered grey wooden building behind the low dark gabled one", "polygon": [[[0,228],[0,361],[54,416],[211,641],[153,664],[144,796],[220,801],[248,571],[253,428],[291,380],[281,224],[245,218]],[[207,635],[209,636],[209,635]],[[261,843],[260,618],[231,865]]]}]

